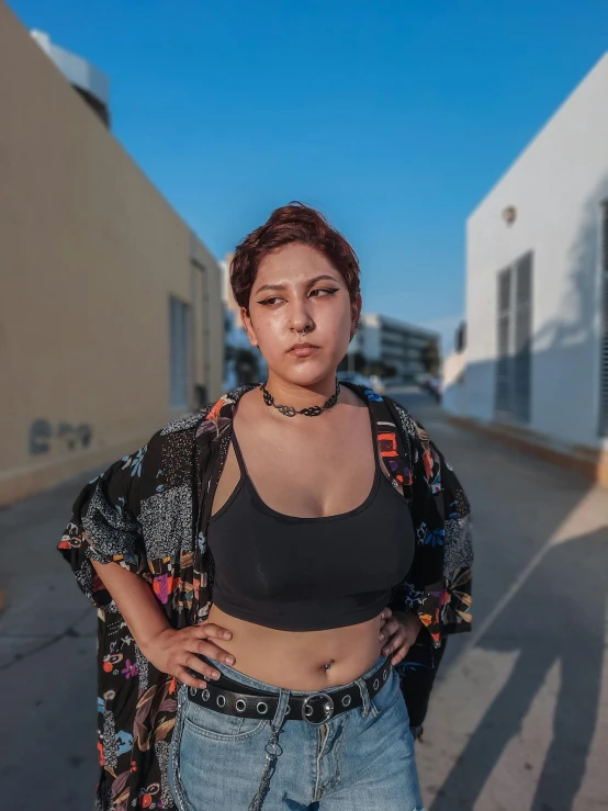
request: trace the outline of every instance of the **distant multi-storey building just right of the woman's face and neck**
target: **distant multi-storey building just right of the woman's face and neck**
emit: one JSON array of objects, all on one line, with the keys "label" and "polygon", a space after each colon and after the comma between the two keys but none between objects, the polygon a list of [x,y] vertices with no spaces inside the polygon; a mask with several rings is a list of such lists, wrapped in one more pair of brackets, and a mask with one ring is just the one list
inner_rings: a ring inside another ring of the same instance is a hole
[{"label": "distant multi-storey building just right of the woman's face and neck", "polygon": [[392,367],[394,374],[389,382],[412,383],[426,372],[425,356],[430,345],[439,357],[437,333],[385,315],[363,313],[348,354],[351,361],[360,352],[368,363],[380,361]]}]

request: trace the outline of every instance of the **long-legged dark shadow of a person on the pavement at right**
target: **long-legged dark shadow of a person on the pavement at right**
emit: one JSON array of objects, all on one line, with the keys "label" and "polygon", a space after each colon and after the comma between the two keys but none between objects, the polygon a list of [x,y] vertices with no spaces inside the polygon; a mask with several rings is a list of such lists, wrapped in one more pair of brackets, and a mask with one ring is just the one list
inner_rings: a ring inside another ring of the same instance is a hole
[{"label": "long-legged dark shadow of a person on the pavement at right", "polygon": [[607,527],[549,550],[480,642],[485,650],[518,651],[519,656],[430,811],[474,808],[555,663],[560,664],[560,689],[553,737],[530,808],[573,808],[597,720],[607,588]]}]

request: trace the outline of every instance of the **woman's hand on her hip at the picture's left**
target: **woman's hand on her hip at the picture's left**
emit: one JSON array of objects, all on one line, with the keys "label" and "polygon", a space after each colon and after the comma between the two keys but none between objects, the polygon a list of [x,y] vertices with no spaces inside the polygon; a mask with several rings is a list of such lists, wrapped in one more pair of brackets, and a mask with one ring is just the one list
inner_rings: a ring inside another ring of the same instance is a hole
[{"label": "woman's hand on her hip at the picture's left", "polygon": [[234,665],[235,657],[230,653],[209,641],[212,639],[228,640],[232,635],[230,631],[212,622],[182,628],[179,631],[174,628],[167,628],[151,639],[142,653],[161,673],[177,676],[182,684],[189,687],[204,689],[207,686],[206,682],[192,676],[188,668],[207,678],[219,678],[219,672],[203,662],[200,655]]}]

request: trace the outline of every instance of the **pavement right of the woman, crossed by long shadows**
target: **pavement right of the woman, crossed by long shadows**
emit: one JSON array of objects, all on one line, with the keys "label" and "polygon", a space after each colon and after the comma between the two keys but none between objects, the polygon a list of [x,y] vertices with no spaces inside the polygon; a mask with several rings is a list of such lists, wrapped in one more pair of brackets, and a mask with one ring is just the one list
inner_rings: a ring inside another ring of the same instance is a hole
[{"label": "pavement right of the woman, crossed by long shadows", "polygon": [[608,493],[403,402],[473,507],[471,634],[450,641],[418,767],[429,811],[608,808]]}]

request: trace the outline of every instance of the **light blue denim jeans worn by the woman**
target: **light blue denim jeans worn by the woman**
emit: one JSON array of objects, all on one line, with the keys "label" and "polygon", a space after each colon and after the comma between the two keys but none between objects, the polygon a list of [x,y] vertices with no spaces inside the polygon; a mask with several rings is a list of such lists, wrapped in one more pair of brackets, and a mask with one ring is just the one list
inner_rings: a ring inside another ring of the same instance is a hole
[{"label": "light blue denim jeans worn by the woman", "polygon": [[398,676],[392,669],[373,700],[362,680],[385,660],[381,656],[352,683],[361,690],[363,706],[320,726],[284,720],[290,691],[209,660],[244,686],[283,694],[284,701],[274,719],[224,716],[190,701],[188,688],[181,687],[169,756],[169,781],[179,811],[247,811],[260,786],[271,723],[281,726],[280,754],[262,811],[423,811]]}]

